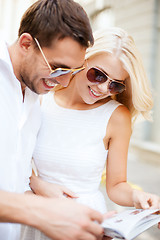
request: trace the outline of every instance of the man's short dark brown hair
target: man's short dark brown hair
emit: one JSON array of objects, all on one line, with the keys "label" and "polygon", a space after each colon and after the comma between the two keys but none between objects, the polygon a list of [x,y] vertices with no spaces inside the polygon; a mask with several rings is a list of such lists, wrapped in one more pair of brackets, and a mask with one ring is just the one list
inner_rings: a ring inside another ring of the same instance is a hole
[{"label": "man's short dark brown hair", "polygon": [[53,40],[71,37],[84,47],[93,45],[89,19],[73,0],[38,0],[24,13],[18,36],[29,33],[41,46],[50,47]]}]

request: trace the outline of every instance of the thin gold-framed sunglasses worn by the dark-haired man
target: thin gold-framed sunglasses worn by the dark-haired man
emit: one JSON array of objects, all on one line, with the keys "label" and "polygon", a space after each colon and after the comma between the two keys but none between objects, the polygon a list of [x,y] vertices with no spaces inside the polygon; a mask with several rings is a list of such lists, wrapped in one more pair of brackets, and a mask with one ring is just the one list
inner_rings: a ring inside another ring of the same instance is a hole
[{"label": "thin gold-framed sunglasses worn by the dark-haired man", "polygon": [[56,69],[52,69],[50,64],[49,64],[49,62],[47,61],[46,56],[44,55],[44,52],[43,52],[43,50],[42,50],[38,40],[36,38],[34,38],[34,40],[35,40],[35,42],[36,42],[40,52],[42,53],[42,56],[43,56],[47,66],[48,66],[48,68],[50,70],[50,74],[49,75],[50,75],[51,78],[52,77],[59,77],[59,76],[62,76],[62,75],[68,74],[68,73],[76,74],[76,73],[78,73],[78,72],[80,72],[80,71],[85,69],[84,66],[81,67],[81,68],[74,68],[74,69],[73,68],[56,68]]}]

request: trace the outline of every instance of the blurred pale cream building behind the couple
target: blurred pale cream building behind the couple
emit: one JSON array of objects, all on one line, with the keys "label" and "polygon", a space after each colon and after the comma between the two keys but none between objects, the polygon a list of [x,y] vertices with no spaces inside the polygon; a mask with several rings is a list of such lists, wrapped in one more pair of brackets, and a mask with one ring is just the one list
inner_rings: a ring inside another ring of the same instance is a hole
[{"label": "blurred pale cream building behind the couple", "polygon": [[[152,83],[152,123],[137,123],[130,145],[134,158],[160,163],[160,0],[76,0],[86,10],[93,30],[118,26],[134,38]],[[33,0],[0,0],[0,30],[10,43],[19,21]],[[1,33],[2,34],[2,33]]]}]

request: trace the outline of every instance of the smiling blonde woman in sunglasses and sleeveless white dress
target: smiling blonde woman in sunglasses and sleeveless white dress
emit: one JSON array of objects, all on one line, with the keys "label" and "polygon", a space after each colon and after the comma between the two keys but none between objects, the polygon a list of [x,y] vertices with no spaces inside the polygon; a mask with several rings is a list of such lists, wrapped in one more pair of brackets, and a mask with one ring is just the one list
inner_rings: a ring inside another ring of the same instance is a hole
[{"label": "smiling blonde woman in sunglasses and sleeveless white dress", "polygon": [[[127,183],[132,125],[138,115],[151,119],[152,108],[150,86],[132,37],[120,28],[97,32],[84,67],[67,88],[43,97],[42,127],[33,156],[39,178],[32,177],[32,190],[48,197],[70,197],[105,213],[98,188],[106,164],[106,190],[112,201],[158,208],[158,196]],[[36,239],[45,239],[37,234]]]}]

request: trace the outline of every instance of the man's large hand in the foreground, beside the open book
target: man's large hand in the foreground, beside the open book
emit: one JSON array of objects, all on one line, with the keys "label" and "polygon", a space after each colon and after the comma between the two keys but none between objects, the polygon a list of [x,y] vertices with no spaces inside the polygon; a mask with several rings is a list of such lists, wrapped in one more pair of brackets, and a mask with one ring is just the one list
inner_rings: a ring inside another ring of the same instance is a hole
[{"label": "man's large hand in the foreground, beside the open book", "polygon": [[99,212],[68,199],[39,197],[38,200],[32,206],[30,225],[51,239],[96,240],[102,236],[103,229],[98,223],[103,216]]}]

